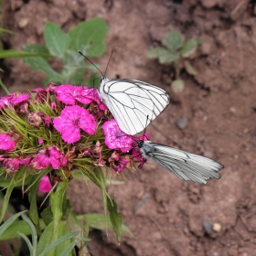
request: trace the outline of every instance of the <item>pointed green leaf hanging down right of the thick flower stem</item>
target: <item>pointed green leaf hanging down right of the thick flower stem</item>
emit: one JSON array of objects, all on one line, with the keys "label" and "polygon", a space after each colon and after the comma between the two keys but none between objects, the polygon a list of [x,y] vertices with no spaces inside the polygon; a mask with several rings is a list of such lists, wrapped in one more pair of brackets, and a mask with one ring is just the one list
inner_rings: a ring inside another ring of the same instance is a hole
[{"label": "pointed green leaf hanging down right of the thick flower stem", "polygon": [[121,228],[122,228],[122,215],[120,212],[117,212],[117,204],[116,202],[110,198],[107,198],[108,210],[110,212],[110,219],[112,221],[112,228],[115,232],[116,239],[121,241]]}]

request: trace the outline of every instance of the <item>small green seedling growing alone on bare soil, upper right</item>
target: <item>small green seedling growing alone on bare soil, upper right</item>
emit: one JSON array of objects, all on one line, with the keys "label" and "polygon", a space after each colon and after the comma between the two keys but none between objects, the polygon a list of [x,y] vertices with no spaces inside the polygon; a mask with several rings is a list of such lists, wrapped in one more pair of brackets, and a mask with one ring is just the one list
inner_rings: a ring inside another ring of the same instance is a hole
[{"label": "small green seedling growing alone on bare soil, upper right", "polygon": [[191,76],[197,75],[196,69],[185,59],[191,57],[197,46],[202,44],[202,40],[201,38],[198,40],[193,38],[184,40],[179,32],[170,31],[165,37],[164,44],[165,47],[156,47],[148,50],[146,57],[148,59],[158,59],[161,64],[173,65],[176,71],[176,80],[173,80],[171,86],[178,93],[184,89],[184,82],[180,79],[181,69],[186,69]]}]

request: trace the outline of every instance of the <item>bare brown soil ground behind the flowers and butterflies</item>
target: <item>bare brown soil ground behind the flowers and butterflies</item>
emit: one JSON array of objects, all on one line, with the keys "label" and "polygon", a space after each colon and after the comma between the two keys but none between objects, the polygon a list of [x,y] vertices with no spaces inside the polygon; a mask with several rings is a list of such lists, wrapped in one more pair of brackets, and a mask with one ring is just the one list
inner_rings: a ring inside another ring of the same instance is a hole
[{"label": "bare brown soil ground behind the flowers and butterflies", "polygon": [[[151,141],[225,165],[221,179],[207,186],[154,164],[144,165],[139,175],[125,171],[127,183],[110,192],[134,237],[123,236],[118,245],[112,230],[108,237],[92,230],[91,255],[256,255],[255,1],[12,0],[3,8],[4,27],[15,31],[3,38],[5,48],[15,49],[43,42],[47,21],[67,31],[84,19],[104,18],[108,50],[97,61],[105,67],[114,50],[108,77],[145,80],[171,95],[170,106],[148,127]],[[186,86],[179,95],[169,86],[173,69],[145,57],[170,30],[204,42],[191,60],[197,76],[182,73]],[[44,76],[21,59],[3,64],[10,91],[42,86]],[[182,116],[185,129],[176,126]],[[92,197],[83,182],[71,182],[69,198],[77,213],[103,212],[101,192],[92,186],[91,192]]]}]

